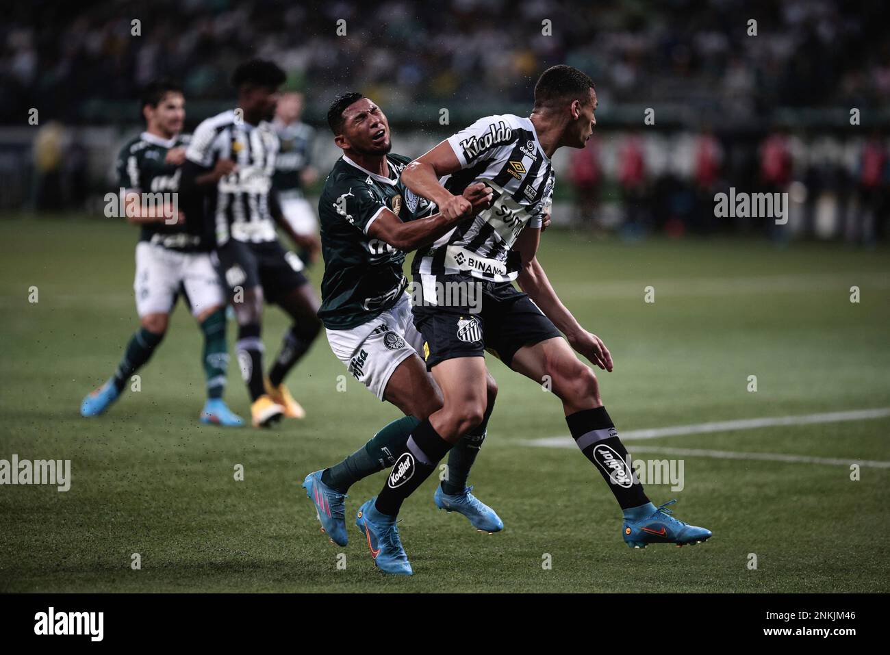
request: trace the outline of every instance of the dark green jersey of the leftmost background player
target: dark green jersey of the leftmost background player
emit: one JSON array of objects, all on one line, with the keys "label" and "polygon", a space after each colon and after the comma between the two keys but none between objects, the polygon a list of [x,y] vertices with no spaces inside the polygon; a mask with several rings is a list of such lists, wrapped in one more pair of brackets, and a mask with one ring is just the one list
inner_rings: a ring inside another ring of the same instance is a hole
[{"label": "dark green jersey of the leftmost background player", "polygon": [[[180,166],[167,164],[166,154],[168,150],[188,146],[189,142],[190,137],[185,134],[178,134],[173,139],[165,141],[148,132],[143,132],[127,142],[117,156],[118,187],[125,192],[178,194],[182,169]],[[190,216],[194,212],[186,211],[179,202],[181,199],[177,196],[179,209],[186,216]],[[162,219],[142,223],[139,240],[149,241],[171,250],[205,250],[206,239],[202,239],[203,231],[200,221],[191,220],[183,224],[167,225]]]}]

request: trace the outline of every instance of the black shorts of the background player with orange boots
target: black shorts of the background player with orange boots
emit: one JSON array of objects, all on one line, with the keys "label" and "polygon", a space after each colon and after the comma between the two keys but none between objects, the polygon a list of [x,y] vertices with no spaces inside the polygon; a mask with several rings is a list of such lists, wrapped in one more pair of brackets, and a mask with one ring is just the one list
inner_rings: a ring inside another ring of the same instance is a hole
[{"label": "black shorts of the background player with orange boots", "polygon": [[303,275],[303,262],[276,241],[246,243],[229,239],[216,248],[214,264],[232,294],[237,290],[263,287],[263,297],[278,303],[309,280]]}]

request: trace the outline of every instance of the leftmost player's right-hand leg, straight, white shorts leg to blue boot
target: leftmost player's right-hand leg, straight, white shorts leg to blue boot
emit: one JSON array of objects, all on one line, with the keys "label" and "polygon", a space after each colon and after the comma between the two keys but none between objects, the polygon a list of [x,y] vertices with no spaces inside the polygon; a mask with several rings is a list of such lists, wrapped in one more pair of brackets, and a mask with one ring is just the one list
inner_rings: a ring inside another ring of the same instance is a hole
[{"label": "leftmost player's right-hand leg, straight, white shorts leg to blue boot", "polygon": [[242,425],[244,422],[240,416],[234,414],[223,400],[229,370],[225,289],[209,255],[186,255],[182,286],[189,299],[191,313],[204,335],[201,361],[206,376],[207,400],[201,410],[200,421],[213,425]]}]

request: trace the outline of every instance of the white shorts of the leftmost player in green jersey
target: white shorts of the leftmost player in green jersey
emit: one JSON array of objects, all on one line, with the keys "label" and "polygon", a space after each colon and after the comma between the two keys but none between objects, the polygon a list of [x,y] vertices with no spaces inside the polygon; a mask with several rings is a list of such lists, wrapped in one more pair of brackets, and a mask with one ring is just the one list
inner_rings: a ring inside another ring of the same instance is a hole
[{"label": "white shorts of the leftmost player in green jersey", "polygon": [[226,302],[209,253],[180,253],[140,241],[136,246],[136,279],[133,283],[139,317],[169,314],[181,286],[189,296],[191,313],[195,316]]}]

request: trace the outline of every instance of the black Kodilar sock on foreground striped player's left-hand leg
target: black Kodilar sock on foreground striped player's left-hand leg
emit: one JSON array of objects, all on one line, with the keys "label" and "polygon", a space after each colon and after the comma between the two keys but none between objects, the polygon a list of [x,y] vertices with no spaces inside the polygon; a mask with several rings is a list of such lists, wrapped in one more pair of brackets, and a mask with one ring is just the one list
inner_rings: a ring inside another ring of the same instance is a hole
[{"label": "black Kodilar sock on foreground striped player's left-hand leg", "polygon": [[441,438],[425,419],[414,429],[408,440],[408,449],[401,454],[386,476],[383,490],[377,496],[377,512],[397,516],[401,504],[423,481],[435,471],[439,460],[445,457],[451,444]]}]

